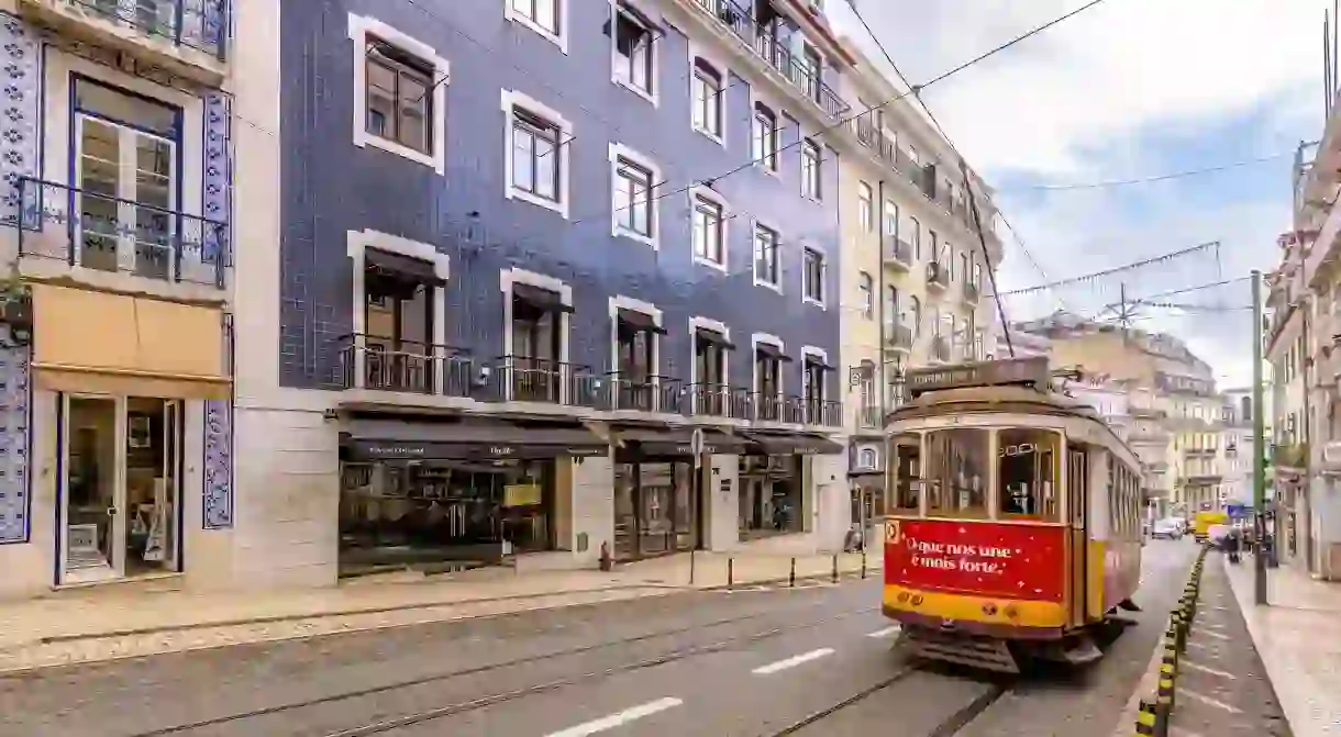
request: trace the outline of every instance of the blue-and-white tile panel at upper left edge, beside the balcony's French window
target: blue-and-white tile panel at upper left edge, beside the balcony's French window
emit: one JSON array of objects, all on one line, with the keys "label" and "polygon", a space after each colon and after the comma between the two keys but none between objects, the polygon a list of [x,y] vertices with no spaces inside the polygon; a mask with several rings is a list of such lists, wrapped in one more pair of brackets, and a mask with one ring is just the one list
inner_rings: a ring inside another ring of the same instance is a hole
[{"label": "blue-and-white tile panel at upper left edge, beside the balcony's French window", "polygon": [[0,224],[19,214],[19,178],[38,174],[42,82],[40,42],[9,13],[0,13]]}]

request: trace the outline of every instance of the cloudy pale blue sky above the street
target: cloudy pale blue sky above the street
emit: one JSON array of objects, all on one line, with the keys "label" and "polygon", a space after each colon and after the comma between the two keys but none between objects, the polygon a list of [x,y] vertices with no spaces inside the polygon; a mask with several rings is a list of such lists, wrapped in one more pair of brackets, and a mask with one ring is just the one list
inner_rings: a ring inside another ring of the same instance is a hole
[{"label": "cloudy pale blue sky above the street", "polygon": [[[921,83],[1085,0],[857,0],[900,71]],[[1218,244],[1122,277],[1006,297],[1007,318],[1270,271],[1289,228],[1301,141],[1324,121],[1321,0],[1105,0],[923,91],[970,165],[996,189],[1006,292]],[[830,21],[878,66],[884,55],[841,0]],[[888,74],[888,67],[884,67]],[[1218,173],[1148,178],[1267,158]],[[1222,387],[1251,377],[1248,281],[1155,302],[1137,327],[1167,331]],[[1214,310],[1198,310],[1210,307]]]}]

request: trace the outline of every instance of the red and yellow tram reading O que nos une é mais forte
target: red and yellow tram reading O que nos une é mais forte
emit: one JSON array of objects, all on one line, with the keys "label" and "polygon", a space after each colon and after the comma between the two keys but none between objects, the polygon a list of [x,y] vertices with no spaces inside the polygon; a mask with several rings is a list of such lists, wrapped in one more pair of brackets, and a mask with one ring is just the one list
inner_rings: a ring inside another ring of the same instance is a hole
[{"label": "red and yellow tram reading O que nos une \u00e9 mais forte", "polygon": [[1089,662],[1141,574],[1141,465],[1046,358],[905,375],[886,418],[884,612],[917,655]]}]

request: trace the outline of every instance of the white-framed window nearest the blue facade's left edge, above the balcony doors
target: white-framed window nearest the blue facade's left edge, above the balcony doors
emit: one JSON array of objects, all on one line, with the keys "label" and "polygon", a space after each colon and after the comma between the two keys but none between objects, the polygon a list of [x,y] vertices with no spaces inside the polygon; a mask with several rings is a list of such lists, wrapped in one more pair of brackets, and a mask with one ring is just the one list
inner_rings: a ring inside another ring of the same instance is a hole
[{"label": "white-framed window nearest the blue facade's left edge, above the balcony doors", "polygon": [[380,39],[367,39],[365,125],[369,134],[414,151],[433,151],[433,66]]}]

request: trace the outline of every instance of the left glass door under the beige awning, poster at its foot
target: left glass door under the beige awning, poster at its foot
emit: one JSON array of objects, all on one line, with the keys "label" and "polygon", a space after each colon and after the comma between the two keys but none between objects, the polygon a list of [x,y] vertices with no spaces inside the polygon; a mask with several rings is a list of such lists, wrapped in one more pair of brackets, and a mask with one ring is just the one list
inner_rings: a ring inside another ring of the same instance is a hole
[{"label": "left glass door under the beige awning, poster at its foot", "polygon": [[60,460],[60,583],[125,575],[122,401],[64,395]]}]

